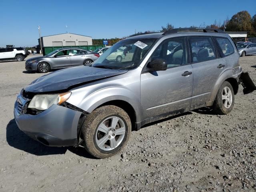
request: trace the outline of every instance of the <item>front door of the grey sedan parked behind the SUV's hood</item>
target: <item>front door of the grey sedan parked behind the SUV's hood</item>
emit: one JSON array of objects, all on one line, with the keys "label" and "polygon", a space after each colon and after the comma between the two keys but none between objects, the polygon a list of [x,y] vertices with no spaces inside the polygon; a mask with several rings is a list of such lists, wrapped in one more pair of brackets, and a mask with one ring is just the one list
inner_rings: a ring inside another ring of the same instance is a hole
[{"label": "front door of the grey sedan parked behind the SUV's hood", "polygon": [[66,68],[71,66],[70,50],[61,50],[52,57],[52,68]]}]

